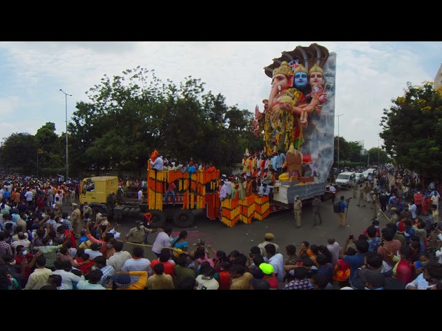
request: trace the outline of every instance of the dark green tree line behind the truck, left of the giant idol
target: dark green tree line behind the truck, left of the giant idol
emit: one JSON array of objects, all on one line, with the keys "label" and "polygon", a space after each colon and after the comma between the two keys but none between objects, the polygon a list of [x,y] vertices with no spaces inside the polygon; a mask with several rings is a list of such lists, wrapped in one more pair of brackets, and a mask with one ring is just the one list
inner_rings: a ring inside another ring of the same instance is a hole
[{"label": "dark green tree line behind the truck, left of the giant idol", "polygon": [[[77,102],[68,123],[72,177],[90,170],[96,174],[108,170],[141,173],[153,149],[179,161],[191,157],[213,161],[221,168],[240,162],[246,148],[262,148],[261,139],[249,130],[253,114],[227,106],[222,94],[205,92],[200,79],[186,77],[179,85],[169,79],[164,83],[154,70],[139,66],[122,75],[104,74],[86,94],[88,101]],[[31,139],[32,144],[23,143],[26,150],[21,148],[26,151],[22,157],[32,160],[26,172],[35,173],[37,150],[39,167],[57,168],[58,172],[66,163],[65,134],[57,137],[55,124],[46,123],[35,136],[8,137],[0,153],[17,148],[17,141]],[[19,161],[2,158],[0,163],[10,168]]]}]

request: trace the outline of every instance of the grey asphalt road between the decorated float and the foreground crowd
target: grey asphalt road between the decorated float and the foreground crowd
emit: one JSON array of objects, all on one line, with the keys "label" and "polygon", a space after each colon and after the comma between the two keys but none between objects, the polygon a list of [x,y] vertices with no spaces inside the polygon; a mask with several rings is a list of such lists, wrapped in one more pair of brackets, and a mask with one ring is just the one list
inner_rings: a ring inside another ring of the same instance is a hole
[{"label": "grey asphalt road between the decorated float and the foreground crowd", "polygon": [[[352,197],[353,194],[349,190],[341,189],[338,191],[338,197],[344,195],[345,199]],[[173,235],[177,236],[181,230],[187,230],[189,233],[189,251],[198,239],[204,239],[206,245],[211,245],[214,250],[223,250],[231,252],[238,250],[248,255],[250,248],[264,241],[264,235],[271,232],[275,235],[274,242],[282,249],[281,253],[287,257],[285,246],[288,244],[296,245],[299,248],[301,241],[309,241],[310,244],[327,245],[327,238],[334,237],[340,245],[345,243],[345,239],[349,234],[354,234],[357,238],[358,234],[363,232],[365,228],[372,224],[372,209],[369,203],[367,206],[356,206],[356,199],[352,199],[349,204],[347,213],[348,228],[340,228],[338,226],[338,215],[333,212],[332,201],[325,201],[321,207],[321,216],[323,225],[313,226],[313,212],[311,205],[305,205],[302,208],[301,228],[297,229],[294,225],[294,215],[289,210],[270,214],[267,219],[262,221],[253,221],[251,224],[236,223],[236,226],[229,228],[221,221],[210,221],[206,219],[202,210],[193,211],[195,214],[195,222],[191,228],[180,229],[173,228]],[[64,208],[65,209],[65,208]],[[68,205],[66,205],[66,211]],[[386,223],[385,217],[379,218],[381,228]],[[135,227],[134,219],[123,219],[120,221],[120,231],[122,237],[133,227]],[[149,234],[148,241],[153,243],[157,234]],[[124,250],[131,252],[133,245],[125,243]],[[155,254],[151,252],[151,248],[144,249],[144,257],[147,259],[155,259]]]}]

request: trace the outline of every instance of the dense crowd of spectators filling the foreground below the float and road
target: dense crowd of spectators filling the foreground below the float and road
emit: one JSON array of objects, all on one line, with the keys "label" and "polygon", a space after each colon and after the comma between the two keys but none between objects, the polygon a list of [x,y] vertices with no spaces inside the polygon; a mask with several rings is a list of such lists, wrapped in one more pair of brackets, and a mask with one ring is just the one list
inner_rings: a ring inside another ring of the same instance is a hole
[{"label": "dense crowd of spectators filling the foreground below the float and road", "polygon": [[[410,201],[403,208],[394,199],[387,203],[385,228],[379,228],[374,217],[365,231],[344,243],[329,237],[321,243],[302,241],[298,247],[280,247],[275,236],[267,233],[262,243],[249,252],[234,247],[222,252],[204,245],[204,241],[191,245],[185,230],[173,236],[170,225],[151,228],[148,218],[137,221],[122,235],[117,223],[111,226],[106,215],[93,212],[87,203],[82,210],[77,203],[70,203],[72,212],[63,212],[58,187],[58,197],[54,194],[49,205],[36,199],[28,201],[26,193],[16,202],[4,192],[17,194],[24,188],[30,192],[28,198],[31,194],[39,197],[32,192],[38,185],[25,183],[14,189],[12,184],[11,190],[5,181],[0,206],[0,289],[440,289],[439,204],[432,203],[432,212],[421,218],[425,210],[414,208],[414,195],[397,191],[403,185],[401,179],[395,176],[385,193]],[[375,177],[369,183],[372,195],[376,195],[377,185]],[[54,185],[44,189],[54,190]],[[381,197],[383,191],[377,193]],[[437,194],[434,188],[432,196]],[[148,245],[148,235],[155,232],[154,243]],[[145,250],[151,250],[157,258],[147,259]]]}]

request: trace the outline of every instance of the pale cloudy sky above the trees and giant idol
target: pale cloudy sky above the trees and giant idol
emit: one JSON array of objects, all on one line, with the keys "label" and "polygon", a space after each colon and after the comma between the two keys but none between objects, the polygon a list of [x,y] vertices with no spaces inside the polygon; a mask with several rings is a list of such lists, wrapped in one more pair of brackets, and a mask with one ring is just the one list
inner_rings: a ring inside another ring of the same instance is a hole
[{"label": "pale cloudy sky above the trees and giant idol", "polygon": [[[378,146],[384,108],[403,94],[407,81],[433,81],[442,63],[442,42],[369,41],[59,41],[0,42],[0,141],[15,132],[35,134],[44,123],[65,131],[85,92],[104,74],[122,74],[137,66],[155,70],[176,85],[201,79],[206,91],[221,93],[227,106],[254,111],[269,97],[265,66],[282,51],[318,43],[336,52],[336,104],[339,134],[347,141]],[[335,135],[338,134],[336,117]],[[381,141],[382,144],[382,141]]]}]

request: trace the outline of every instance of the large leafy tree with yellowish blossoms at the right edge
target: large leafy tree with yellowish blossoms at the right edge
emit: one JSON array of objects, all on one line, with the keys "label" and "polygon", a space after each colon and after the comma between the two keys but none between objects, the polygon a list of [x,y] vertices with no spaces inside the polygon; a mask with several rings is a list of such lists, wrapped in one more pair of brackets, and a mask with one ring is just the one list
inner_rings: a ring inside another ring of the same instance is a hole
[{"label": "large leafy tree with yellowish blossoms at the right edge", "polygon": [[403,168],[422,176],[442,172],[442,98],[433,83],[407,83],[403,97],[392,100],[381,119],[385,150]]}]

